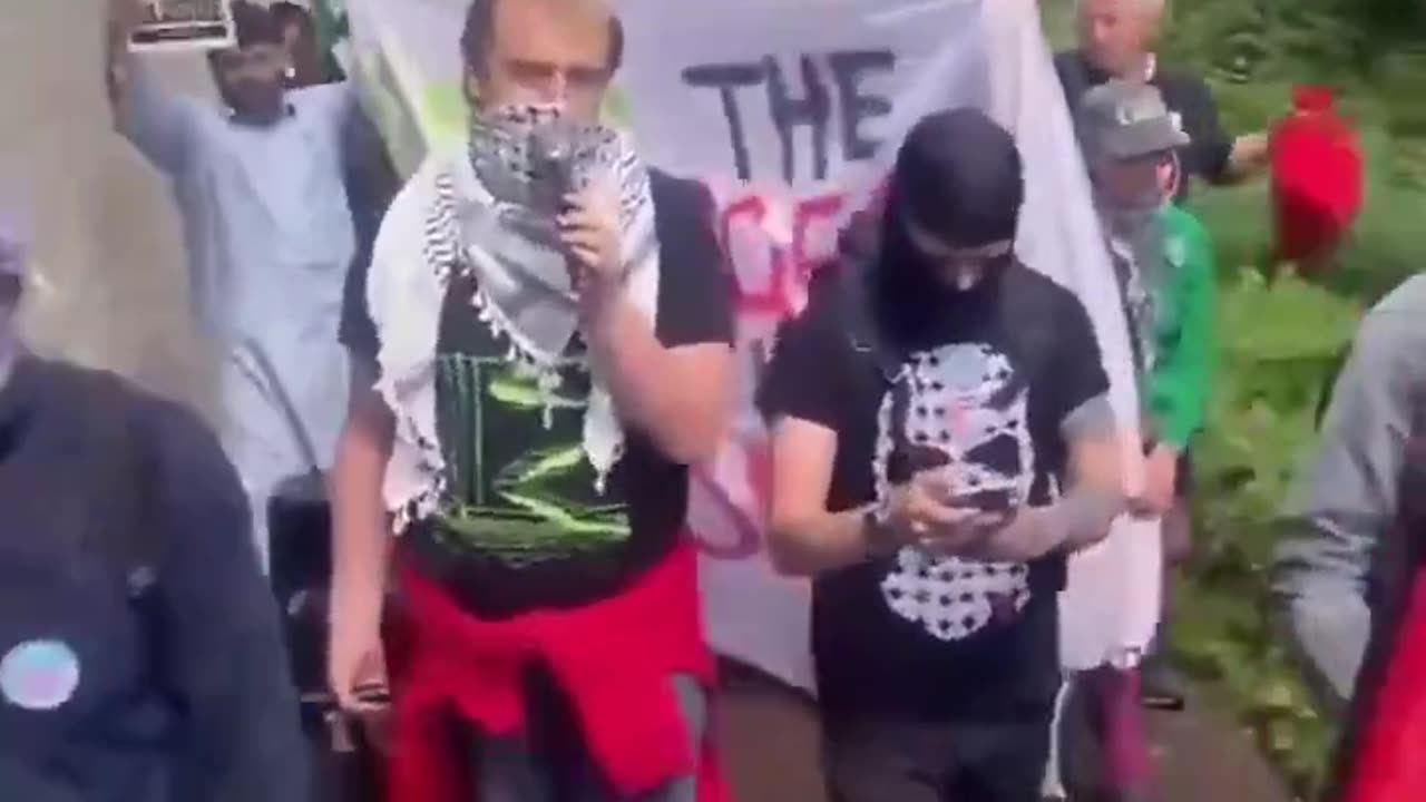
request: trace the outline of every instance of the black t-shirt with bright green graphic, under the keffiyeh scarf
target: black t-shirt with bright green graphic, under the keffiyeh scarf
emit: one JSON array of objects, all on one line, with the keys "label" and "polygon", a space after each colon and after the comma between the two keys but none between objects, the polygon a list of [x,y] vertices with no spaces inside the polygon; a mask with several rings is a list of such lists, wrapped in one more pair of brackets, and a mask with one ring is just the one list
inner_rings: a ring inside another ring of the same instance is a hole
[{"label": "black t-shirt with bright green graphic, under the keffiyeh scarf", "polygon": [[[655,334],[670,348],[732,344],[733,285],[712,198],[700,184],[657,171],[650,194],[660,271]],[[542,401],[533,378],[509,360],[505,337],[481,320],[473,294],[473,280],[458,274],[442,304],[436,420],[448,491],[439,514],[402,538],[405,554],[482,618],[607,598],[679,542],[687,467],[629,428],[623,457],[597,489],[582,450],[588,371],[563,370],[556,401]],[[359,294],[348,294],[344,318],[347,345],[374,362],[379,342]]]}]

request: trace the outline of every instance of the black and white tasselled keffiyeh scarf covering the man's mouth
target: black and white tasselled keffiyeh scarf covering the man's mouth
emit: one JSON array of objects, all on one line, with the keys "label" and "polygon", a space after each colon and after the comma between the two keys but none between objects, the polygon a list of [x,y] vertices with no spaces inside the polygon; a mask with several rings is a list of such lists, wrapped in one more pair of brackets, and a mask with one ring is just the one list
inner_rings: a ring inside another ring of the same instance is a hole
[{"label": "black and white tasselled keffiyeh scarf covering the man's mouth", "polygon": [[625,291],[656,321],[659,243],[649,173],[623,134],[573,124],[555,107],[506,107],[481,114],[459,151],[428,157],[386,214],[366,284],[381,340],[376,391],[396,417],[385,497],[398,531],[434,514],[445,491],[435,360],[453,275],[473,278],[472,313],[536,378],[549,400],[546,425],[562,371],[590,372],[583,447],[600,489],[623,454],[623,428],[599,365],[572,355],[579,314],[555,225],[560,198],[545,197],[550,183],[542,170],[552,161],[568,170],[562,187],[607,181],[617,193]]}]

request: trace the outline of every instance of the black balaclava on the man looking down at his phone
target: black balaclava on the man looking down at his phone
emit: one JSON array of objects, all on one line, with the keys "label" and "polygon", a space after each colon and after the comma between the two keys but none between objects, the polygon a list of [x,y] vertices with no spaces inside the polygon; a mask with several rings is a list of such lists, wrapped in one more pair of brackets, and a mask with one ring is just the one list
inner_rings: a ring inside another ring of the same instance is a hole
[{"label": "black balaclava on the man looking down at his phone", "polygon": [[873,267],[886,334],[924,345],[947,317],[987,314],[1002,271],[991,265],[974,287],[958,290],[911,243],[907,221],[947,245],[975,248],[1015,238],[1022,200],[1020,151],[983,111],[940,111],[917,123],[897,154]]}]

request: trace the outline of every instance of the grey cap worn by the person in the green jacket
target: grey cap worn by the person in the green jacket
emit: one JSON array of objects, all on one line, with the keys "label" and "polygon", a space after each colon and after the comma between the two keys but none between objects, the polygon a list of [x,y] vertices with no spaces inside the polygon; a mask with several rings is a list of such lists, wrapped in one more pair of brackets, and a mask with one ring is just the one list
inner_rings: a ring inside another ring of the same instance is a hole
[{"label": "grey cap worn by the person in the green jacket", "polygon": [[1111,158],[1138,158],[1189,143],[1176,114],[1151,84],[1114,78],[1084,94],[1078,110],[1085,151]]}]

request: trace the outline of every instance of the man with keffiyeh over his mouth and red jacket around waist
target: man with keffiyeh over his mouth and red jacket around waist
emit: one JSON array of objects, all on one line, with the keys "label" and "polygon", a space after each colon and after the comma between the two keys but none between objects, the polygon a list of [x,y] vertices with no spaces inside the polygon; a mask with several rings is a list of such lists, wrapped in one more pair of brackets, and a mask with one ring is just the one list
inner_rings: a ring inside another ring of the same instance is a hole
[{"label": "man with keffiyeh over his mouth and red jacket around waist", "polygon": [[603,3],[476,0],[461,46],[469,136],[345,313],[372,381],[338,450],[332,688],[361,714],[388,682],[395,542],[392,798],[717,799],[682,537],[732,405],[710,203],[599,123]]}]

